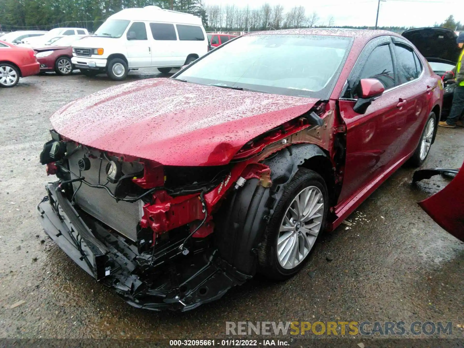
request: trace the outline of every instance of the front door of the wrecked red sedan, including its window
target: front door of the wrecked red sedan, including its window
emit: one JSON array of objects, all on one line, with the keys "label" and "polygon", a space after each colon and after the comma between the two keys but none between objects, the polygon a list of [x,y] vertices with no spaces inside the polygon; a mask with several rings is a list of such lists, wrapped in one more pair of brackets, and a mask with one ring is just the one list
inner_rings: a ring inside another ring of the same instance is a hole
[{"label": "front door of the wrecked red sedan, including its window", "polygon": [[[375,78],[385,87],[364,115],[353,110],[356,87],[362,78]],[[339,100],[347,125],[346,166],[339,203],[360,193],[397,160],[402,105],[396,88],[393,43],[389,36],[371,40],[361,52]]]}]

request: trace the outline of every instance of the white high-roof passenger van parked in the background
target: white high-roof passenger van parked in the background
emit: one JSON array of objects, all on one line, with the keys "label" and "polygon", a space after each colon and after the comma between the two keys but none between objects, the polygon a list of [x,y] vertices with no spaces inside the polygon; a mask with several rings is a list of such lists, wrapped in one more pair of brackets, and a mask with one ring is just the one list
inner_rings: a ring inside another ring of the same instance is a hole
[{"label": "white high-roof passenger van parked in the background", "polygon": [[131,69],[190,64],[208,52],[201,19],[158,6],[126,8],[111,15],[94,36],[72,44],[72,64],[86,76],[123,80]]}]

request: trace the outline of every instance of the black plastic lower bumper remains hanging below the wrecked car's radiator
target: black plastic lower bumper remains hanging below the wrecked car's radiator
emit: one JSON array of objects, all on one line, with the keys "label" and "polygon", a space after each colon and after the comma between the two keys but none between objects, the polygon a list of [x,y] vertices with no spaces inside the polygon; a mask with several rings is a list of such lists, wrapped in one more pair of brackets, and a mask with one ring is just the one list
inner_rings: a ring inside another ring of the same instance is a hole
[{"label": "black plastic lower bumper remains hanging below the wrecked car's radiator", "polygon": [[183,255],[183,238],[139,254],[137,247],[71,206],[58,188],[37,207],[45,232],[84,271],[137,308],[186,311],[223,296],[248,275],[202,247]]}]

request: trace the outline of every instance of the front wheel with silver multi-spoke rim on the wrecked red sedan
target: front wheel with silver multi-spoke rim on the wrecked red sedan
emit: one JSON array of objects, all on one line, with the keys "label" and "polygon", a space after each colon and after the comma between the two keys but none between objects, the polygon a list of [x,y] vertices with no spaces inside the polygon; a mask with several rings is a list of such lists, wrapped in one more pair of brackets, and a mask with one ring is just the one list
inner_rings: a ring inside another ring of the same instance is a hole
[{"label": "front wheel with silver multi-spoke rim on the wrecked red sedan", "polygon": [[322,176],[300,168],[284,187],[264,232],[259,272],[284,280],[300,271],[324,228],[328,208],[329,195]]}]

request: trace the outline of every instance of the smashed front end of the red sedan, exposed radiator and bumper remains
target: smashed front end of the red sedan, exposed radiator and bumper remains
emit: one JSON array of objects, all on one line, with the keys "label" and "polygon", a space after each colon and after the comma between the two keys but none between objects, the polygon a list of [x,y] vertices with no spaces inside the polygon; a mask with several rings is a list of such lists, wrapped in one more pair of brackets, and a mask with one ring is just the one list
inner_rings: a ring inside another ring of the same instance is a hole
[{"label": "smashed front end of the red sedan, exposed radiator and bumper remains", "polygon": [[126,302],[188,310],[250,278],[212,245],[206,195],[229,184],[229,166],[163,167],[52,137],[40,156],[59,179],[38,206],[45,232]]}]

